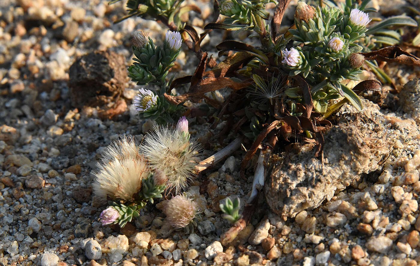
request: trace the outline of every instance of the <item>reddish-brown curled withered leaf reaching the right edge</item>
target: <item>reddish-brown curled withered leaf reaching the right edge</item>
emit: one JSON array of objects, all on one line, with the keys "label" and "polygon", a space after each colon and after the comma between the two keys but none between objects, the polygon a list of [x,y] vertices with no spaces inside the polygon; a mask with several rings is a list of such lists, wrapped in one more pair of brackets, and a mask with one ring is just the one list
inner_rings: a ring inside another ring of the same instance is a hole
[{"label": "reddish-brown curled withered leaf reaching the right edge", "polygon": [[398,46],[388,46],[376,51],[360,53],[366,60],[395,62],[404,65],[420,66],[420,58],[402,50]]}]

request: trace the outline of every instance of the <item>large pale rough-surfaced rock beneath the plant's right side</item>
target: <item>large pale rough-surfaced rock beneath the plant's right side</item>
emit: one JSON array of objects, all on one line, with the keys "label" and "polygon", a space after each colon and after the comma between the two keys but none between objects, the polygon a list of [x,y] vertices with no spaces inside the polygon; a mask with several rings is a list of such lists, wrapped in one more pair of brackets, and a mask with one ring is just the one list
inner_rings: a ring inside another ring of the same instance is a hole
[{"label": "large pale rough-surfaced rock beneath the plant's right side", "polygon": [[375,122],[384,117],[376,104],[364,104],[368,112],[357,112],[349,104],[341,108],[336,125],[324,136],[324,162],[314,157],[314,151],[287,152],[268,171],[267,203],[283,219],[320,206],[361,174],[377,170],[378,163],[386,159],[391,144],[383,137],[383,125]]}]

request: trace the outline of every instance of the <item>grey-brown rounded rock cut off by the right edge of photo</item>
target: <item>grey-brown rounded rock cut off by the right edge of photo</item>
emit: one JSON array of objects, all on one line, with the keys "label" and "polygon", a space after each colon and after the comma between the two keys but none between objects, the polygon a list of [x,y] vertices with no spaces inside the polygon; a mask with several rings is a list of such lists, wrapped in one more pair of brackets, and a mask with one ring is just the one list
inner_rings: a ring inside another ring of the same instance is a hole
[{"label": "grey-brown rounded rock cut off by the right edge of photo", "polygon": [[420,125],[420,78],[407,82],[398,96],[402,110]]}]

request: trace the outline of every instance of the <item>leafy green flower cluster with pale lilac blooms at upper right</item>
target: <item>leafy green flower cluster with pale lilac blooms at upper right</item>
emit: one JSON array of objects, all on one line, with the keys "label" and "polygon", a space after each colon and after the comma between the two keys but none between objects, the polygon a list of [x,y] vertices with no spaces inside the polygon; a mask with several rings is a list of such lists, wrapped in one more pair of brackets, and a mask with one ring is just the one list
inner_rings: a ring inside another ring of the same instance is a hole
[{"label": "leafy green flower cluster with pale lilac blooms at upper right", "polygon": [[[341,81],[357,80],[361,73],[363,60],[355,55],[362,50],[358,41],[365,37],[370,21],[365,12],[355,8],[343,13],[338,8],[313,8],[298,3],[297,29],[289,30],[297,46],[281,51],[281,63],[290,69],[290,76],[302,73],[309,81],[315,111],[324,113],[328,100],[339,96],[352,103],[360,102],[356,94],[342,89]],[[362,106],[356,108],[361,110]]]}]

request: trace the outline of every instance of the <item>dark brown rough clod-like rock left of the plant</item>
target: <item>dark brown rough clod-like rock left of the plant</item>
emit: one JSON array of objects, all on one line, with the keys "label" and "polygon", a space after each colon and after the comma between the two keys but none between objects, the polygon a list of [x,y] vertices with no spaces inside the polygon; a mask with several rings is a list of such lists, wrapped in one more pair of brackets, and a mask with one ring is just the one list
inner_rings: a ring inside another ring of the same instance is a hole
[{"label": "dark brown rough clod-like rock left of the plant", "polygon": [[89,53],[71,65],[69,77],[74,107],[116,102],[128,80],[125,58],[112,51]]}]

